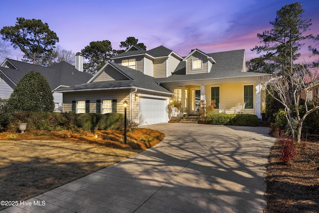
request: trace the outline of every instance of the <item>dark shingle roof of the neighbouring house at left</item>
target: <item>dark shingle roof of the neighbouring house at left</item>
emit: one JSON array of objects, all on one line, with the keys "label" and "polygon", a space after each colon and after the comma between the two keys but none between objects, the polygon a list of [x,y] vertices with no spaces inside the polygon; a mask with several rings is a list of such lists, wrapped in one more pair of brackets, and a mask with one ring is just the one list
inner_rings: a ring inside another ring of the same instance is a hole
[{"label": "dark shingle roof of the neighbouring house at left", "polygon": [[92,75],[80,72],[71,64],[62,61],[54,65],[44,67],[40,65],[25,63],[12,59],[7,59],[18,70],[13,68],[0,67],[0,70],[16,85],[22,77],[30,71],[41,73],[48,81],[53,90],[60,85],[73,86],[87,82]]}]

